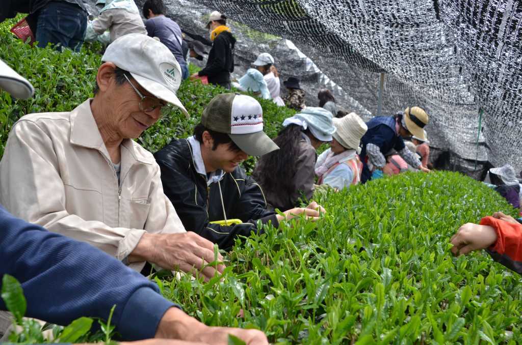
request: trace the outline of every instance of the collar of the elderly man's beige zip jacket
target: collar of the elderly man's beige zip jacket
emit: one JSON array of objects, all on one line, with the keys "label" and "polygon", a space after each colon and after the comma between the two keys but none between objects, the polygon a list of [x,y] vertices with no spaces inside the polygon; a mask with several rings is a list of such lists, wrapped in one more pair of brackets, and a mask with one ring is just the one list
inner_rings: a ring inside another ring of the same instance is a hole
[{"label": "collar of the elderly man's beige zip jacket", "polygon": [[[101,138],[98,125],[94,120],[91,110],[92,98],[78,105],[70,112],[70,139],[69,142],[74,145],[88,147],[100,151],[106,157],[109,157],[103,139]],[[127,150],[122,151],[122,159],[125,153],[128,153],[132,159],[143,164],[152,164],[153,159],[145,156],[136,150],[137,143],[131,139],[124,139],[122,144]]]}]

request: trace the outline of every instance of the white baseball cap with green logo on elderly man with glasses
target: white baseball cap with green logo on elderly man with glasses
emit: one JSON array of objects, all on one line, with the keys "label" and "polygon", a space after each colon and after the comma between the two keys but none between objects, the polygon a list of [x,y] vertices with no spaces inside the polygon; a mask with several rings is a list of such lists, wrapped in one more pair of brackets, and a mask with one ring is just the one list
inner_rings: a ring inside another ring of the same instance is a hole
[{"label": "white baseball cap with green logo on elderly man with glasses", "polygon": [[188,117],[176,96],[182,81],[180,64],[160,41],[145,34],[129,33],[109,44],[101,60],[128,71],[141,87],[180,108]]}]

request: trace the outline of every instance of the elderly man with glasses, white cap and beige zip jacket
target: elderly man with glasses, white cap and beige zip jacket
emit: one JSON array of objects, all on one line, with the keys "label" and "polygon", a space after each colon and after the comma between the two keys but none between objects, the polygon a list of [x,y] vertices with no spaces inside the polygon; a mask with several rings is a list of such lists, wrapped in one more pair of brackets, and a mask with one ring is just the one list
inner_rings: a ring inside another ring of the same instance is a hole
[{"label": "elderly man with glasses, white cap and beige zip jacket", "polygon": [[[13,126],[0,162],[0,203],[138,272],[146,262],[184,272],[213,262],[213,244],[185,231],[154,157],[133,140],[167,103],[187,114],[176,97],[179,64],[143,34],[117,39],[102,61],[94,98],[71,112],[23,116]],[[203,270],[207,279],[215,274]]]}]

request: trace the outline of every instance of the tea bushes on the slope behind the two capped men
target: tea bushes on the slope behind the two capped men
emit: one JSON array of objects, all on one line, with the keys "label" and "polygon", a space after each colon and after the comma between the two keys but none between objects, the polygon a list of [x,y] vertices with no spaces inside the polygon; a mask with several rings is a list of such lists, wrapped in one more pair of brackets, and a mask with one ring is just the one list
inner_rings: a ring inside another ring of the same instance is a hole
[{"label": "tea bushes on the slope behind the two capped men", "polygon": [[[81,53],[65,50],[55,52],[52,48],[33,49],[16,39],[9,28],[21,19],[0,23],[0,58],[27,78],[35,89],[30,100],[15,100],[6,92],[0,92],[0,157],[11,126],[25,114],[41,112],[66,112],[93,96],[96,73],[101,65],[102,47],[86,44]],[[193,67],[193,66],[191,66]],[[194,69],[191,68],[191,72]],[[145,131],[137,141],[147,150],[156,152],[173,138],[192,135],[203,109],[217,94],[230,92],[220,87],[203,85],[198,81],[183,81],[177,96],[185,105],[191,117],[187,119],[177,108],[154,126]],[[281,129],[282,121],[295,112],[286,107],[278,107],[270,100],[257,98],[263,107],[265,131],[275,137]],[[255,159],[250,158],[244,166],[251,171]]]}]

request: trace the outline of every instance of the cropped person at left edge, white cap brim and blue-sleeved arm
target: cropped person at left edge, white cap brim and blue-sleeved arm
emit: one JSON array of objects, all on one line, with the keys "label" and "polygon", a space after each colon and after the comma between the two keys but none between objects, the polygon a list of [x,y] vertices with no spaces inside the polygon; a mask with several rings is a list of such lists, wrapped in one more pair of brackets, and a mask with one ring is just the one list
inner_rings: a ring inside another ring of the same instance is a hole
[{"label": "cropped person at left edge, white cap brim and blue-sleeved arm", "polygon": [[[34,94],[31,83],[2,60],[0,85],[17,98]],[[163,298],[156,284],[114,257],[18,219],[2,205],[0,229],[0,290],[2,277],[14,276],[25,294],[28,317],[67,325],[81,316],[108,319],[116,305],[112,324],[124,340],[161,338],[227,344],[232,334],[247,344],[268,344],[259,330],[200,323]],[[2,299],[0,310],[6,310]]]}]

